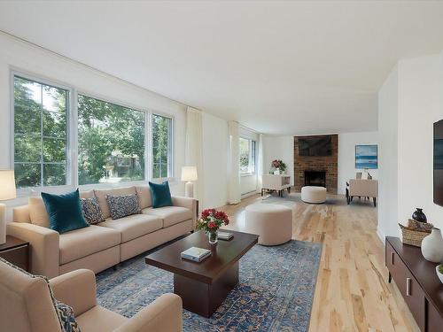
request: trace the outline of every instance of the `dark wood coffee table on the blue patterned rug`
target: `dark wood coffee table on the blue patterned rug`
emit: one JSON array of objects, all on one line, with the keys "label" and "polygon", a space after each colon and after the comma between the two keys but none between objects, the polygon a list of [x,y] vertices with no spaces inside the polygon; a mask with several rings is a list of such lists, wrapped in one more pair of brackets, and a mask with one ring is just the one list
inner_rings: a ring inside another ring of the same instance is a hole
[{"label": "dark wood coffee table on the blue patterned rug", "polygon": [[[238,259],[249,251],[258,235],[234,232],[229,241],[211,246],[207,235],[198,231],[146,256],[146,264],[174,274],[174,292],[182,297],[183,308],[206,318],[217,310],[238,283]],[[180,253],[190,247],[212,250],[202,262],[182,259]]]}]

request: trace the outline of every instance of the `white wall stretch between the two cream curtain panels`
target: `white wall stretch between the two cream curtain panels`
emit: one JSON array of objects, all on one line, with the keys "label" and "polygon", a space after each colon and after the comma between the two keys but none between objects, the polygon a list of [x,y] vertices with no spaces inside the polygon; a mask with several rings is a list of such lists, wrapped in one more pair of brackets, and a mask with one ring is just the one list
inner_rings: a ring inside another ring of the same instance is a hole
[{"label": "white wall stretch between the two cream curtain panels", "polygon": [[228,201],[228,122],[203,112],[203,169],[205,200],[201,208]]}]

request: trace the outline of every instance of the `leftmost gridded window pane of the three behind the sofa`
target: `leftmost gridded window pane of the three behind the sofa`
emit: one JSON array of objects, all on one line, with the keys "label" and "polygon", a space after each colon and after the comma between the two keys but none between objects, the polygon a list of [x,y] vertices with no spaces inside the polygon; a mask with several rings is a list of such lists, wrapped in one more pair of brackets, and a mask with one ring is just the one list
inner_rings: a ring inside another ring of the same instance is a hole
[{"label": "leftmost gridded window pane of the three behind the sofa", "polygon": [[69,91],[14,76],[18,188],[65,185]]}]

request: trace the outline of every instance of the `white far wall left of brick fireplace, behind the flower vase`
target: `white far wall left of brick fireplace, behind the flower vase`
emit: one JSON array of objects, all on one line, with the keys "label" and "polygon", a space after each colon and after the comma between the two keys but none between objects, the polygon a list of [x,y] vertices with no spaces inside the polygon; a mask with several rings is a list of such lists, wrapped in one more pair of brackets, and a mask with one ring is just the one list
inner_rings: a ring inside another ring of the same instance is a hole
[{"label": "white far wall left of brick fireplace, behind the flower vase", "polygon": [[271,170],[271,162],[282,159],[286,164],[286,173],[291,175],[291,185],[294,184],[294,137],[293,136],[263,136],[263,173]]}]

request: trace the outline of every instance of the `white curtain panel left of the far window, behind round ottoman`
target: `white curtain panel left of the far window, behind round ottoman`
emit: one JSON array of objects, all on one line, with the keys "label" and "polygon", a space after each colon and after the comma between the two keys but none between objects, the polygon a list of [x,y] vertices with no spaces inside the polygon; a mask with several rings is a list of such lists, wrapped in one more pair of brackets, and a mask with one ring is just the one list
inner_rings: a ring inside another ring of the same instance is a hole
[{"label": "white curtain panel left of the far window, behind round ottoman", "polygon": [[240,140],[238,122],[229,121],[228,203],[237,204],[240,190]]}]

